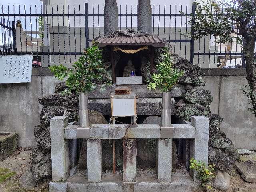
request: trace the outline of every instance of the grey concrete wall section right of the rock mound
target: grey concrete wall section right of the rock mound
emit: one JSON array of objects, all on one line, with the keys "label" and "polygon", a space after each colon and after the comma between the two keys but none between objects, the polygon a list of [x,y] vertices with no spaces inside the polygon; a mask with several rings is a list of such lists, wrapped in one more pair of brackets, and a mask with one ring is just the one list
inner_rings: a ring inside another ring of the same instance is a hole
[{"label": "grey concrete wall section right of the rock mound", "polygon": [[256,149],[256,118],[241,88],[248,86],[245,69],[203,69],[206,86],[213,102],[211,111],[223,118],[221,129],[235,148]]}]

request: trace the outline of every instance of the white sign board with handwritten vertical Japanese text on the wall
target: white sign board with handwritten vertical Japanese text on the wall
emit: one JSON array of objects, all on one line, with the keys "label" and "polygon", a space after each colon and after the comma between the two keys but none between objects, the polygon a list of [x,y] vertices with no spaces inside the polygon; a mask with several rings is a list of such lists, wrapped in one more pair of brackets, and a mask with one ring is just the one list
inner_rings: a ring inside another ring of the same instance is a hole
[{"label": "white sign board with handwritten vertical Japanese text on the wall", "polygon": [[32,58],[32,55],[0,56],[0,83],[30,82]]}]

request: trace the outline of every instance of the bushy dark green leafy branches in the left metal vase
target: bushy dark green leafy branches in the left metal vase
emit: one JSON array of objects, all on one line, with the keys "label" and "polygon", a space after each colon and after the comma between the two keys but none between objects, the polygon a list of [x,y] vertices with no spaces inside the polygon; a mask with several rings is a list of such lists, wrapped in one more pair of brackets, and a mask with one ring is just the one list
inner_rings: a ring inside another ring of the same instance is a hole
[{"label": "bushy dark green leafy branches in the left metal vase", "polygon": [[110,81],[103,79],[103,75],[108,76],[108,74],[102,64],[102,50],[96,45],[84,50],[84,54],[74,63],[73,67],[68,69],[62,64],[49,67],[59,80],[68,77],[66,80],[68,92],[87,93],[94,90],[97,84],[110,84]]}]

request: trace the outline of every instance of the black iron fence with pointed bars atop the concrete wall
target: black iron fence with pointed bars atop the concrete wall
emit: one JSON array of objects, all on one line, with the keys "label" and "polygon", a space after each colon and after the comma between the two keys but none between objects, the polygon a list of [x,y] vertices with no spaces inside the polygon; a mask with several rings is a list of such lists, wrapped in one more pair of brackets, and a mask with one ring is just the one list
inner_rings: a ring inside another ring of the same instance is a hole
[{"label": "black iron fence with pointed bars atop the concrete wall", "polygon": [[[118,9],[120,30],[138,30],[138,5]],[[186,34],[194,33],[187,23],[191,14],[195,14],[192,4],[153,5],[152,34],[166,38],[173,52],[202,68],[222,62],[244,67],[242,45],[217,44],[211,34],[198,40],[189,38]],[[33,54],[44,66],[72,64],[96,36],[104,35],[103,5],[2,6],[0,18],[0,54]]]}]

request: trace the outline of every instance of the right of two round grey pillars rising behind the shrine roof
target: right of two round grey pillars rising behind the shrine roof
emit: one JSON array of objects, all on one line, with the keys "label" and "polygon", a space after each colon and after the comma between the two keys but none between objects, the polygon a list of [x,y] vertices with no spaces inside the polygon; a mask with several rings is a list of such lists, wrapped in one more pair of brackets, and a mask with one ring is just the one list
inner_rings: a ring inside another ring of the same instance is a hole
[{"label": "right of two round grey pillars rising behind the shrine roof", "polygon": [[150,0],[139,0],[138,2],[138,31],[151,34],[151,6]]}]

